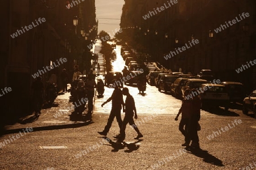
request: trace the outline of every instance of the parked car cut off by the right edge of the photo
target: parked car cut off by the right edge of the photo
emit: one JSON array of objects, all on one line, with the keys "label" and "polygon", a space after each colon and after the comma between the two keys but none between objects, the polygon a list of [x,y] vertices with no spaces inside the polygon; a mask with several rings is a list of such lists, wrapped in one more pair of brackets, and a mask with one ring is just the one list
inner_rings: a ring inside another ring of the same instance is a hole
[{"label": "parked car cut off by the right edge of the photo", "polygon": [[243,114],[248,114],[249,111],[253,112],[256,117],[256,90],[243,99]]}]

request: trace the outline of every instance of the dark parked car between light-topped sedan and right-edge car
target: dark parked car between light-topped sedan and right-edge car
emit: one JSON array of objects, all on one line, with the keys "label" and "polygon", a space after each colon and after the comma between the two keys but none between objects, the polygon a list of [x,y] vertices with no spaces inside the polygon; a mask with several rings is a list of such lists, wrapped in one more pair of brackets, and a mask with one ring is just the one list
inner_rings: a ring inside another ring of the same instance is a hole
[{"label": "dark parked car between light-topped sedan and right-edge car", "polygon": [[242,103],[245,98],[245,89],[242,83],[239,82],[221,82],[223,86],[226,87],[228,91],[230,102]]}]

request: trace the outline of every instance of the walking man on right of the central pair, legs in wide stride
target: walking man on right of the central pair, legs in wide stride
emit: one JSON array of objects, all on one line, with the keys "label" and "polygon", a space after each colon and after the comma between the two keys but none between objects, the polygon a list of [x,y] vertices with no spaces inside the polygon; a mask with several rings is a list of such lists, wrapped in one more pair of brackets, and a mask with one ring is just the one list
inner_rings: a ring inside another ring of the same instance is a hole
[{"label": "walking man on right of the central pair, legs in wide stride", "polygon": [[123,124],[122,129],[119,137],[119,141],[123,141],[125,139],[125,129],[126,125],[129,123],[129,125],[133,126],[134,130],[138,133],[137,137],[134,139],[142,138],[143,135],[139,131],[138,127],[135,125],[135,122],[133,120],[133,116],[135,119],[138,118],[137,116],[137,110],[135,107],[135,102],[133,99],[133,96],[129,94],[129,89],[127,87],[123,88],[123,95],[126,96],[125,100],[125,118],[123,118]]}]

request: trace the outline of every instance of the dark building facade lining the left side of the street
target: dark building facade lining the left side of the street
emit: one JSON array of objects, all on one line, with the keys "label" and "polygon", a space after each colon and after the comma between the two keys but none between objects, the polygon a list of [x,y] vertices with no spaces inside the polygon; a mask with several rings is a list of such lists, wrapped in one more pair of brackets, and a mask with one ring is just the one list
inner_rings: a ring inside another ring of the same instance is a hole
[{"label": "dark building facade lining the left side of the street", "polygon": [[[73,74],[75,58],[82,56],[86,43],[97,36],[95,1],[5,0],[2,5],[0,87],[12,91],[1,96],[0,103],[3,114],[20,116],[32,109],[32,75],[60,58],[67,62],[40,75],[43,82],[52,73],[58,77],[64,68]],[[81,28],[88,35],[81,35]]]}]

